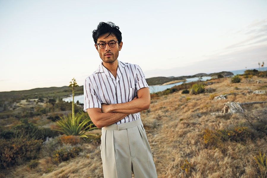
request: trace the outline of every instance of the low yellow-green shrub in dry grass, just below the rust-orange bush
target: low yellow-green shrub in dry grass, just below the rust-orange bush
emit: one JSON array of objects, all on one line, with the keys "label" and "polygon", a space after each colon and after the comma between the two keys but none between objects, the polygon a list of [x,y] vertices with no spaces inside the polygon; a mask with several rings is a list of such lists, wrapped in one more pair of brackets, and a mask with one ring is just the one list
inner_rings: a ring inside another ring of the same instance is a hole
[{"label": "low yellow-green shrub in dry grass, just below the rust-orange bush", "polygon": [[70,149],[62,148],[60,150],[55,150],[53,154],[53,161],[55,163],[61,163],[67,161],[70,158],[75,158],[82,149],[80,147],[71,147]]}]

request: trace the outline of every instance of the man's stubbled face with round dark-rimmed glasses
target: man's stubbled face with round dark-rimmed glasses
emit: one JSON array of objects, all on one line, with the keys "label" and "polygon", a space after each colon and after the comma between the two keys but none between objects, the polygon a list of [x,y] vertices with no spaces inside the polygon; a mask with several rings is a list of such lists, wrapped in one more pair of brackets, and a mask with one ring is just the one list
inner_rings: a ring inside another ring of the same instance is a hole
[{"label": "man's stubbled face with round dark-rimmed glasses", "polygon": [[[108,42],[117,42],[117,38],[116,36],[112,36],[109,35],[107,38],[108,34],[104,34],[99,36],[99,38],[97,39],[97,44],[104,42],[104,43],[108,43]],[[108,44],[106,44],[105,48],[100,48],[98,45],[95,45],[96,50],[99,53],[100,58],[102,59],[102,61],[104,63],[112,63],[114,61],[117,60],[118,56],[119,56],[119,51],[121,50],[123,42],[116,43],[116,45],[114,47],[110,47]]]}]

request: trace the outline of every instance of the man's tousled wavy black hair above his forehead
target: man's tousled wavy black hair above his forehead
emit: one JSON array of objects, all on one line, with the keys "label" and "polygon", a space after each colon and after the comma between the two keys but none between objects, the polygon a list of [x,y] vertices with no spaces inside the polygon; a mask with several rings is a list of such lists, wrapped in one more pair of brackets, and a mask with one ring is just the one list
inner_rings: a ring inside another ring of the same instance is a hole
[{"label": "man's tousled wavy black hair above his forehead", "polygon": [[118,42],[120,43],[122,40],[122,37],[121,37],[121,32],[119,29],[120,29],[119,26],[116,26],[112,22],[107,22],[107,23],[100,22],[96,30],[93,30],[93,39],[94,39],[95,44],[97,43],[97,39],[99,38],[99,36],[103,34],[108,34],[106,38],[109,35],[116,36],[116,38],[118,39]]}]

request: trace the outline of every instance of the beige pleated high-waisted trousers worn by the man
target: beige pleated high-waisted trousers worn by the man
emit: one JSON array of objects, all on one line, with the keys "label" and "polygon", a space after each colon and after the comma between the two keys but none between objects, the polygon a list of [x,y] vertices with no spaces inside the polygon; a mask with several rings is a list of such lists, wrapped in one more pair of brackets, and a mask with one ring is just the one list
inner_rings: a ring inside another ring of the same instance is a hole
[{"label": "beige pleated high-waisted trousers worn by the man", "polygon": [[103,127],[100,149],[104,178],[157,178],[141,119]]}]

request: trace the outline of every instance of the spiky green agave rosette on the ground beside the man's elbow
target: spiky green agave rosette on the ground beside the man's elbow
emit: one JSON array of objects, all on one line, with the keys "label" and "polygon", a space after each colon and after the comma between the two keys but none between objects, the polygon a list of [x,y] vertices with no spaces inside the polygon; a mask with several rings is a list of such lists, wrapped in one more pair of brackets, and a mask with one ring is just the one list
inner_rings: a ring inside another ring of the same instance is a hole
[{"label": "spiky green agave rosette on the ground beside the man's elbow", "polygon": [[88,138],[88,135],[94,136],[94,134],[86,134],[86,132],[97,128],[94,127],[90,117],[86,116],[84,112],[78,113],[74,118],[72,115],[60,117],[56,121],[56,126],[53,130],[62,132],[67,136],[75,135],[82,138]]}]

